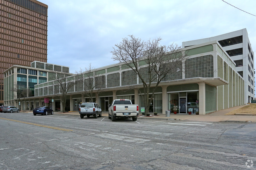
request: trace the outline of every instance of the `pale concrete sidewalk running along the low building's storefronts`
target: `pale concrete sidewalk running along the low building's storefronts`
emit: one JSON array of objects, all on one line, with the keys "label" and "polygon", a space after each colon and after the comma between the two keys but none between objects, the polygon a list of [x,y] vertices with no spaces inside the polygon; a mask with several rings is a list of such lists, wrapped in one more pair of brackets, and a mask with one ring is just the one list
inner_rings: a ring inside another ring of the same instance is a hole
[{"label": "pale concrete sidewalk running along the low building's storefronts", "polygon": [[[220,110],[214,112],[212,114],[205,114],[205,115],[196,115],[196,114],[174,114],[171,113],[170,117],[166,117],[165,114],[151,114],[150,117],[139,115],[138,119],[174,119],[174,120],[181,120],[181,121],[201,121],[201,122],[256,122],[256,116],[252,115],[225,115],[232,110],[239,109],[243,106],[237,106],[225,110]],[[79,116],[78,111],[74,112],[54,112],[54,114],[66,114],[66,115],[77,115]],[[108,117],[108,112],[102,112],[102,117]]]}]

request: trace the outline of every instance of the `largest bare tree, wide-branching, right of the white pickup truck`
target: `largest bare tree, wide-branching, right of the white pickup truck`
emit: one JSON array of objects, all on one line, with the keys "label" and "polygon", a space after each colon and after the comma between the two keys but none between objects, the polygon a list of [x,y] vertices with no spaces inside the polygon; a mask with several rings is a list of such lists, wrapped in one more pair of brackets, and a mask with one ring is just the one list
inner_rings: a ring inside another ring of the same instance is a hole
[{"label": "largest bare tree, wide-branching, right of the white pickup truck", "polygon": [[126,64],[139,77],[139,84],[143,84],[143,91],[139,90],[139,93],[143,97],[145,113],[148,113],[158,84],[166,76],[182,72],[182,61],[186,57],[177,44],[160,45],[161,38],[145,42],[133,35],[128,37],[113,47],[112,58]]}]

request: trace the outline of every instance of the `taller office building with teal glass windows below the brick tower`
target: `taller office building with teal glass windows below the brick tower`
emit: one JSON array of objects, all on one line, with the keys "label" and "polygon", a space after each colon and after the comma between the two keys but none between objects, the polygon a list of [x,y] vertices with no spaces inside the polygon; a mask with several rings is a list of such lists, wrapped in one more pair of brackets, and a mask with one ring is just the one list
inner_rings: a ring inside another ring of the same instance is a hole
[{"label": "taller office building with teal glass windows below the brick tower", "polygon": [[[17,106],[18,108],[17,88],[28,89],[30,93],[27,94],[27,97],[34,97],[35,85],[55,80],[54,74],[56,72],[65,72],[73,75],[69,73],[69,67],[39,61],[32,62],[30,67],[20,65],[11,66],[4,72],[4,101],[8,101],[5,102],[5,106]],[[28,102],[22,99],[20,105],[21,110],[32,110],[44,104],[42,102],[39,103],[38,100]],[[51,101],[49,106],[51,106]]]}]

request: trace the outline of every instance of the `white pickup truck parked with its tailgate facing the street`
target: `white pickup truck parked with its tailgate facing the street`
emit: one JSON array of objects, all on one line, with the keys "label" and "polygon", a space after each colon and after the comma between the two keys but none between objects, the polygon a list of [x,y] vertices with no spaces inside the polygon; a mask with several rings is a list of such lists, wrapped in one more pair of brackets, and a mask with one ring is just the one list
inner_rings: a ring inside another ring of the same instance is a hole
[{"label": "white pickup truck parked with its tailgate facing the street", "polygon": [[133,121],[136,121],[138,115],[139,107],[137,104],[132,104],[131,100],[117,99],[109,105],[109,119],[112,121],[116,121],[116,117],[131,117]]}]

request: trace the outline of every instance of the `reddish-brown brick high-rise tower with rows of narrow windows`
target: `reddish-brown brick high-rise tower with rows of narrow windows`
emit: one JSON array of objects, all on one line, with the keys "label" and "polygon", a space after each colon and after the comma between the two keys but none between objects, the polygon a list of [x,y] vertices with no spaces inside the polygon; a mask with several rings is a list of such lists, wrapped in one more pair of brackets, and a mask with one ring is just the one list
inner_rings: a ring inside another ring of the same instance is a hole
[{"label": "reddish-brown brick high-rise tower with rows of narrow windows", "polygon": [[47,9],[36,0],[0,0],[0,106],[6,69],[47,62]]}]

